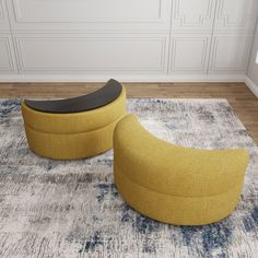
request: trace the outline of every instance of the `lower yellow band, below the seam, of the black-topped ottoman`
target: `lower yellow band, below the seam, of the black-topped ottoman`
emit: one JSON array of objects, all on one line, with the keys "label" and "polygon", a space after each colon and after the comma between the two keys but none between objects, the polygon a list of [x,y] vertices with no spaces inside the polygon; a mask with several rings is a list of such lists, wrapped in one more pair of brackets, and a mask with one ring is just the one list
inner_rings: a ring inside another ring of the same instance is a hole
[{"label": "lower yellow band, below the seam, of the black-topped ottoman", "polygon": [[38,155],[54,160],[90,157],[113,148],[113,131],[118,120],[97,130],[81,133],[46,133],[25,125],[30,148]]}]

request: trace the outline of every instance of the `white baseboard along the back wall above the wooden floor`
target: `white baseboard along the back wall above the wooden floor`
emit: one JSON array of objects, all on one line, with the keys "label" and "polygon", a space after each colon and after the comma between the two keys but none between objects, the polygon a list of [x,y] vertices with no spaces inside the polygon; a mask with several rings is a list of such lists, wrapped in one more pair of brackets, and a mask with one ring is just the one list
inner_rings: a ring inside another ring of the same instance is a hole
[{"label": "white baseboard along the back wall above the wooden floor", "polygon": [[246,82],[245,74],[0,74],[0,82],[105,82],[110,78],[121,82]]}]

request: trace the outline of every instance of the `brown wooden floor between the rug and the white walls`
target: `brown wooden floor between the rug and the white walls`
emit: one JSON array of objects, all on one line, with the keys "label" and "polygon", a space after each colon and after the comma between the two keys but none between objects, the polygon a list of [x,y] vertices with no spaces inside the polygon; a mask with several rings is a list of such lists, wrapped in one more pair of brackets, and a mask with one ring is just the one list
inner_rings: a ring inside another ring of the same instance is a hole
[{"label": "brown wooden floor between the rug and the white walls", "polygon": [[[244,83],[125,83],[128,97],[226,98],[258,143],[258,98]],[[0,83],[0,97],[68,97],[103,83]]]}]

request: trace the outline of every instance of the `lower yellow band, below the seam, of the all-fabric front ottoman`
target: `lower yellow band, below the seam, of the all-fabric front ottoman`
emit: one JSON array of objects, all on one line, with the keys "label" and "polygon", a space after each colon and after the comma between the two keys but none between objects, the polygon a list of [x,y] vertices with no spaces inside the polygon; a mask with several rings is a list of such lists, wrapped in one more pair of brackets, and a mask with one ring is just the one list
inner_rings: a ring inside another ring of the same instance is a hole
[{"label": "lower yellow band, below the seam, of the all-fabric front ottoman", "polygon": [[235,209],[242,185],[207,197],[171,196],[140,186],[115,167],[115,183],[126,202],[156,221],[175,225],[204,225],[218,222]]}]

